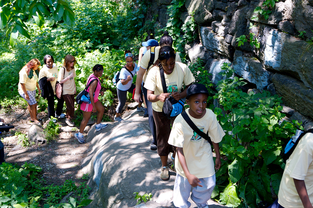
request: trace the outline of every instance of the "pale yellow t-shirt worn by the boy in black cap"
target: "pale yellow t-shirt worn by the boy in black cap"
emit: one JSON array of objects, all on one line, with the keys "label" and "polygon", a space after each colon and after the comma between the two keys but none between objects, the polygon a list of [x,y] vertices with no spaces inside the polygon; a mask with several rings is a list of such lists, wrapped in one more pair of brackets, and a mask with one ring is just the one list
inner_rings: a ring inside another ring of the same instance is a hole
[{"label": "pale yellow t-shirt worn by the boy in black cap", "polygon": [[[190,116],[190,110],[189,108],[186,109],[187,115],[201,131],[209,131],[208,135],[214,143],[222,141],[225,133],[212,110],[206,109],[206,113],[201,119],[195,119]],[[194,132],[185,119],[182,118],[181,114],[174,121],[168,144],[175,147],[182,147],[188,170],[197,178],[207,178],[215,174],[210,143]],[[177,155],[175,168],[179,175],[187,178]]]}]

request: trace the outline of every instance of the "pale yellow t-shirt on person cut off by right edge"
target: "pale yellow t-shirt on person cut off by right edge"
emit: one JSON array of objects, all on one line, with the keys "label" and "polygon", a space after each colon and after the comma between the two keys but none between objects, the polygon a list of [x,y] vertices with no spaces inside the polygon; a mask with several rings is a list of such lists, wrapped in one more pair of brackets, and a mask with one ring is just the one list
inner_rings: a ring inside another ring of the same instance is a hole
[{"label": "pale yellow t-shirt on person cut off by right edge", "polygon": [[305,134],[286,161],[280,181],[278,203],[285,208],[303,207],[293,179],[304,180],[310,202],[313,203],[313,134]]}]

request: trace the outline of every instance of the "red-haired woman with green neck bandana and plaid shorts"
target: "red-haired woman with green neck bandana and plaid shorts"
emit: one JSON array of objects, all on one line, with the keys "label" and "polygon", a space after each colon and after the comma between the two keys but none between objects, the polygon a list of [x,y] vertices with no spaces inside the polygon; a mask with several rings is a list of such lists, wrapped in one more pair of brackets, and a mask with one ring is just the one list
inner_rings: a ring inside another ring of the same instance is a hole
[{"label": "red-haired woman with green neck bandana and plaid shorts", "polygon": [[30,121],[39,124],[41,119],[37,119],[36,87],[41,93],[38,85],[40,61],[37,58],[30,60],[19,72],[18,93],[28,103]]}]

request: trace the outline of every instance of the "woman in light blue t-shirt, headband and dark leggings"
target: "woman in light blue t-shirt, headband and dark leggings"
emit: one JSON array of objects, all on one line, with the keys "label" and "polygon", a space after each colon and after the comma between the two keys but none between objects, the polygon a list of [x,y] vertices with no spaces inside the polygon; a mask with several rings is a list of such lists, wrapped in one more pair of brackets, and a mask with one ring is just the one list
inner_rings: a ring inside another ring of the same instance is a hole
[{"label": "woman in light blue t-shirt, headband and dark leggings", "polygon": [[[136,74],[136,68],[137,64],[134,63],[133,54],[131,54],[130,51],[126,50],[124,53],[126,65],[123,66],[120,72],[120,80],[116,84],[117,89],[117,97],[118,97],[118,105],[115,109],[115,121],[123,121],[124,119],[121,118],[122,109],[126,103],[126,96],[127,92],[133,93],[135,89],[135,84],[133,84],[133,77]],[[145,109],[142,109],[141,103],[138,104],[137,111],[144,111]]]}]

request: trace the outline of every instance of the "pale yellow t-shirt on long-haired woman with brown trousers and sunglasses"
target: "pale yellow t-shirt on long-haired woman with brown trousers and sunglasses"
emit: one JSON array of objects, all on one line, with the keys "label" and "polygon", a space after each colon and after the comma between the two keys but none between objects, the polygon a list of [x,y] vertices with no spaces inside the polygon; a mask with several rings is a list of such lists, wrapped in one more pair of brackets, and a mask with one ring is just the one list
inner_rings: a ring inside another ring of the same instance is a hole
[{"label": "pale yellow t-shirt on long-haired woman with brown trousers and sunglasses", "polygon": [[68,77],[72,73],[74,73],[74,76],[72,78],[69,78],[63,83],[63,87],[62,87],[63,94],[75,94],[76,93],[76,86],[75,86],[75,80],[74,80],[74,77],[76,77],[76,72],[74,68],[69,70],[69,72],[67,70],[65,70],[64,72],[64,66],[60,68],[58,82],[64,79],[64,77],[65,78]]}]

